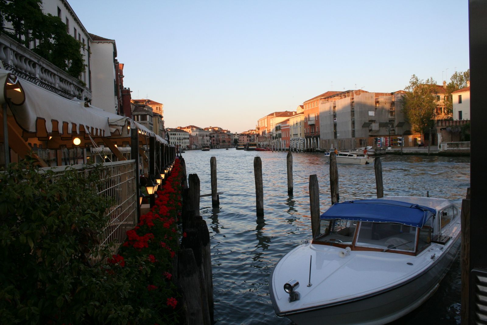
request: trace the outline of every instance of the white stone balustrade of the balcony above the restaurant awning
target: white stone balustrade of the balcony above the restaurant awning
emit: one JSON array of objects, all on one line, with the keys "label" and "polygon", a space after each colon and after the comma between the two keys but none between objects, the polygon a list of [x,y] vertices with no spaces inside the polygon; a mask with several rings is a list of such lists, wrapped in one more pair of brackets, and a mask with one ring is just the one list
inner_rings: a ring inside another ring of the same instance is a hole
[{"label": "white stone balustrade of the balcony above the restaurant awning", "polygon": [[0,60],[5,70],[68,99],[91,99],[91,91],[51,62],[0,34]]}]

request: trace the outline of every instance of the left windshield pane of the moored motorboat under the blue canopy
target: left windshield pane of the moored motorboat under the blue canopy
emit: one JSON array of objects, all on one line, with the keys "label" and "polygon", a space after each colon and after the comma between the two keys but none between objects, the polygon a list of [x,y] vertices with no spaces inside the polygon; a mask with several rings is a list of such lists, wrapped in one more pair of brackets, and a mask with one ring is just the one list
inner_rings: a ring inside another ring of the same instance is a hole
[{"label": "left windshield pane of the moored motorboat under the blue canopy", "polygon": [[315,240],[323,243],[352,245],[357,221],[320,220],[318,235]]}]

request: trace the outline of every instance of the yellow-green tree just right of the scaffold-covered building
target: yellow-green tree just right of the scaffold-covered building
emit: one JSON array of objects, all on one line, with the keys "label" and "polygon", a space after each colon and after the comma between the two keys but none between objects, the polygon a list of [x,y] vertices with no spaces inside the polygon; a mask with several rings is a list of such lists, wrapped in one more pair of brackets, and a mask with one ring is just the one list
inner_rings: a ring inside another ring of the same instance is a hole
[{"label": "yellow-green tree just right of the scaffold-covered building", "polygon": [[432,77],[422,80],[412,75],[409,84],[405,87],[407,93],[401,99],[402,111],[411,124],[412,131],[421,135],[428,132],[434,123],[436,100],[432,93],[435,85],[436,81]]}]

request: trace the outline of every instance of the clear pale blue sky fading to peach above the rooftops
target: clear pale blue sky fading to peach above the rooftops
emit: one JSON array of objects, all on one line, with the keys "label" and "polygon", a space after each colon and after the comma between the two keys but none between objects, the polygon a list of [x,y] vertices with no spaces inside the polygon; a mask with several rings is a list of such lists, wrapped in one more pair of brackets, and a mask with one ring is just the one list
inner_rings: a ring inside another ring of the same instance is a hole
[{"label": "clear pale blue sky fading to peach above the rooftops", "polygon": [[469,68],[467,0],[68,0],[114,39],[132,98],[167,128],[233,132],[326,91],[438,84]]}]

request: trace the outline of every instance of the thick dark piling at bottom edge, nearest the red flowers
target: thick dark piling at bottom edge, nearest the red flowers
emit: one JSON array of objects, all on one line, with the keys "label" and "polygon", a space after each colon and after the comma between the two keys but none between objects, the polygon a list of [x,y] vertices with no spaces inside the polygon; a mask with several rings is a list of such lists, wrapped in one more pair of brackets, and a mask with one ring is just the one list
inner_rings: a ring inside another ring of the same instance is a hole
[{"label": "thick dark piling at bottom edge, nearest the red flowers", "polygon": [[209,324],[209,315],[204,316],[202,307],[200,270],[192,249],[178,251],[178,275],[179,286],[183,291],[183,304],[186,307],[186,324]]}]

